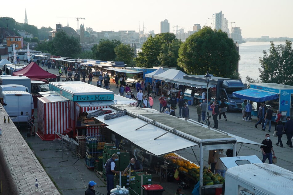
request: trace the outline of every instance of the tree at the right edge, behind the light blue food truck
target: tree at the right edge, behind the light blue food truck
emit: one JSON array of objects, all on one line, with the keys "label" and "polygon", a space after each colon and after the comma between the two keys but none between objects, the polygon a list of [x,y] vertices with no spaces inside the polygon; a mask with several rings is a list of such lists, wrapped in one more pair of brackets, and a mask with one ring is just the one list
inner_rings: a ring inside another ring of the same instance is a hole
[{"label": "tree at the right edge, behind the light blue food truck", "polygon": [[264,50],[263,57],[259,58],[262,69],[258,69],[259,78],[264,83],[279,83],[293,85],[293,50],[292,42],[285,41],[285,44],[275,46],[271,41],[269,54]]}]

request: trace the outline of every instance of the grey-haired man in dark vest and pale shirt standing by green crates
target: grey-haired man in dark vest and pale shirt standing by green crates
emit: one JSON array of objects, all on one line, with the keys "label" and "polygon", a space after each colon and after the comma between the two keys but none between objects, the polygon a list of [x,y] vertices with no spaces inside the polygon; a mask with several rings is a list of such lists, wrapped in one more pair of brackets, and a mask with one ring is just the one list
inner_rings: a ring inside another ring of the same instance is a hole
[{"label": "grey-haired man in dark vest and pale shirt standing by green crates", "polygon": [[110,194],[110,190],[114,188],[114,175],[119,174],[120,171],[115,171],[115,161],[118,161],[119,157],[117,154],[112,154],[111,158],[106,161],[104,166],[106,170],[106,178],[107,178],[107,195]]}]

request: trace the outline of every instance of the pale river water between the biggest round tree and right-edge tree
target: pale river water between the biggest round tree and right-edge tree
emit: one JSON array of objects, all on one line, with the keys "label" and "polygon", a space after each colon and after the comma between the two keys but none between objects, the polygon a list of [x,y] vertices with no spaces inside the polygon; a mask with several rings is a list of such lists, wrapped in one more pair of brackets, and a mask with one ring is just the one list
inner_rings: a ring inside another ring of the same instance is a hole
[{"label": "pale river water between the biggest round tree and right-edge tree", "polygon": [[[275,45],[285,44],[285,42],[274,42]],[[248,75],[253,79],[259,78],[258,69],[261,68],[259,58],[263,57],[263,50],[269,53],[270,42],[246,42],[239,44],[239,73],[242,77],[242,82],[245,82],[245,77]]]}]

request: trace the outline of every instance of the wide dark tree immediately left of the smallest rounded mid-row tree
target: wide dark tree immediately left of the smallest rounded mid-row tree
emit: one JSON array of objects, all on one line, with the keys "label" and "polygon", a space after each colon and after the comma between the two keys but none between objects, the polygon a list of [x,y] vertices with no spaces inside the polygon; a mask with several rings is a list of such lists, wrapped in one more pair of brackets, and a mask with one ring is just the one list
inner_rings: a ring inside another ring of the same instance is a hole
[{"label": "wide dark tree immediately left of the smallest rounded mid-row tree", "polygon": [[120,45],[121,42],[117,40],[100,40],[99,44],[92,47],[93,55],[98,60],[115,61],[115,47]]}]

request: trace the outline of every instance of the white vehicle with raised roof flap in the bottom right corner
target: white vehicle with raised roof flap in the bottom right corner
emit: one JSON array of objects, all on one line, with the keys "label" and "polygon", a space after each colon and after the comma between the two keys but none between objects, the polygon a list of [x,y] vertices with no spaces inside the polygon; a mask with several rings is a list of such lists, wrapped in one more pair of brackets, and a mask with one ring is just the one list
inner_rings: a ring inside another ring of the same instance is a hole
[{"label": "white vehicle with raised roof flap in the bottom right corner", "polygon": [[293,172],[262,163],[256,156],[220,158],[226,166],[225,195],[288,195],[293,191]]}]

